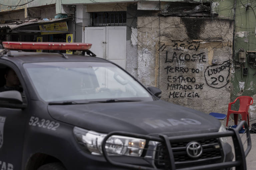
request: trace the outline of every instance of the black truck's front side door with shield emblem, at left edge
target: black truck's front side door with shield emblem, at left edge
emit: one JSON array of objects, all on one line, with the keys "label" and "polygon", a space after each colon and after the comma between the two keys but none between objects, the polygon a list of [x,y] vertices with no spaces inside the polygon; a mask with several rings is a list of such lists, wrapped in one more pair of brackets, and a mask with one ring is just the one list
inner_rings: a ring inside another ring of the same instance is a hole
[{"label": "black truck's front side door with shield emblem, at left edge", "polygon": [[[18,68],[11,63],[4,63],[0,61],[0,90],[2,91],[6,84],[6,66],[9,66],[9,70],[13,70],[16,73],[21,84],[19,87],[22,90],[24,81]],[[27,93],[25,91],[25,88],[21,91],[23,103],[27,103],[27,95],[25,95]],[[21,169],[24,130],[25,124],[28,122],[28,109],[7,108],[1,105],[3,102],[5,101],[0,100],[0,169]]]}]

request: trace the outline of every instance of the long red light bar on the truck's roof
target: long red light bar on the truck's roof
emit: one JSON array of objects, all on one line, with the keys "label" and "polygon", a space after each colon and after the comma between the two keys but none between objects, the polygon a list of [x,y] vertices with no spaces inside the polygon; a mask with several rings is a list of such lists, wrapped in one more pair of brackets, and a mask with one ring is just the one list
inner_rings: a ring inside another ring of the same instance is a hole
[{"label": "long red light bar on the truck's roof", "polygon": [[6,49],[88,50],[92,44],[75,42],[3,42]]}]

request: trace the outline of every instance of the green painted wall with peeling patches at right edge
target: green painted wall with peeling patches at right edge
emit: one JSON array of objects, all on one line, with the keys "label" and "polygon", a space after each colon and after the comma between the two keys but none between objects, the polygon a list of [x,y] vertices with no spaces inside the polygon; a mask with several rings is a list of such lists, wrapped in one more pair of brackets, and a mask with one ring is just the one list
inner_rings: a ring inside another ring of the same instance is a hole
[{"label": "green painted wall with peeling patches at right edge", "polygon": [[[219,4],[216,10],[219,10],[220,18],[233,18],[233,0],[215,1]],[[248,3],[248,5],[247,5]],[[246,8],[246,6],[248,6]],[[232,41],[232,40],[230,40]],[[234,35],[234,58],[233,69],[231,71],[231,99],[234,101],[238,96],[251,96],[256,101],[256,67],[248,63],[249,57],[246,62],[239,63],[238,51],[240,48],[245,51],[256,51],[256,1],[251,0],[236,0],[235,11],[235,35]],[[248,56],[248,55],[247,55]],[[238,67],[236,67],[239,66]],[[255,68],[253,68],[255,67]],[[248,68],[248,75],[242,75],[242,68]],[[242,90],[241,90],[242,89]],[[255,107],[250,106],[251,119],[256,118]],[[233,109],[238,110],[239,104],[234,105]]]}]

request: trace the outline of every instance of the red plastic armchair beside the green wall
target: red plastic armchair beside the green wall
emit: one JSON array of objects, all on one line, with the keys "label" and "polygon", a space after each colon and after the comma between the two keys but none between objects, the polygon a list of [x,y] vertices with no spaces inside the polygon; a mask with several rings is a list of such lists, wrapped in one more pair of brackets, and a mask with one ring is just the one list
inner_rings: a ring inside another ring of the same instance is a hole
[{"label": "red plastic armchair beside the green wall", "polygon": [[[233,111],[233,110],[231,110],[231,105],[236,103],[237,99],[239,99],[239,102],[240,102],[239,110]],[[248,126],[250,127],[248,109],[249,109],[250,105],[252,105],[252,104],[253,104],[253,99],[250,96],[239,96],[236,98],[236,100],[234,102],[229,103],[226,126],[228,126],[229,115],[231,113],[233,113],[235,125],[237,125],[238,114],[240,114],[240,115],[242,115],[243,121],[246,121],[246,119],[248,119]]]}]

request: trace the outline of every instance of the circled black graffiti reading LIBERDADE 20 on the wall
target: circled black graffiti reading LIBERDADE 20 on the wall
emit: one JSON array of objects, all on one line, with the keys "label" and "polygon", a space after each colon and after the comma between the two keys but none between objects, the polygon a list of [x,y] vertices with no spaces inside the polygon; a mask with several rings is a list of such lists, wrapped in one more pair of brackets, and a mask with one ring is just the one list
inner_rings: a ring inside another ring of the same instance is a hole
[{"label": "circled black graffiti reading LIBERDADE 20 on the wall", "polygon": [[211,65],[205,69],[206,84],[212,88],[220,89],[229,83],[231,60],[218,65]]}]

